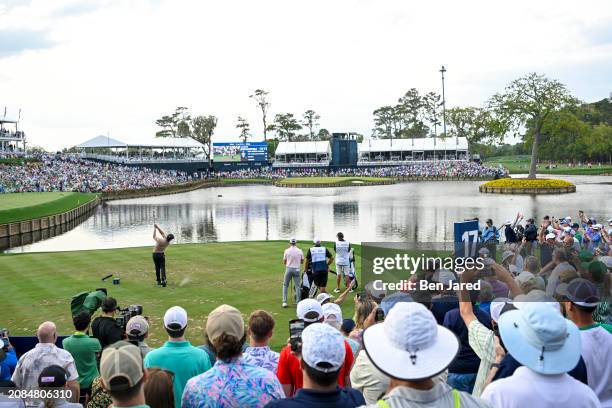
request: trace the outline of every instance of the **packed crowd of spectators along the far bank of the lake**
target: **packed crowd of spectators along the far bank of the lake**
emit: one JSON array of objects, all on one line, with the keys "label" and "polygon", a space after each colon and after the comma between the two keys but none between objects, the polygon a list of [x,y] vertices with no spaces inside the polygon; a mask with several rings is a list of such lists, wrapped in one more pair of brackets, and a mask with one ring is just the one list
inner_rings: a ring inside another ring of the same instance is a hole
[{"label": "packed crowd of spectators along the far bank of the lake", "polygon": [[[6,157],[9,157],[8,155]],[[12,157],[12,155],[11,155]],[[194,179],[280,179],[286,177],[371,176],[371,177],[504,177],[502,167],[486,167],[475,162],[424,162],[395,167],[353,169],[280,169],[262,167],[235,171],[188,174],[174,170],[152,170],[85,160],[78,155],[36,154],[37,161],[23,164],[0,163],[0,193],[78,191],[105,192],[155,188]]]}]

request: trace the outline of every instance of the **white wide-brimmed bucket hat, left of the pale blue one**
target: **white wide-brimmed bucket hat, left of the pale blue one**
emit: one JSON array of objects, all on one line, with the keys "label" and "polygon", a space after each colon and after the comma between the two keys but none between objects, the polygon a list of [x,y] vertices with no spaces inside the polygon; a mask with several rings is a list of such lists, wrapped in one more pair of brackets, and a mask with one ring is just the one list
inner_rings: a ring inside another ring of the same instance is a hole
[{"label": "white wide-brimmed bucket hat, left of the pale blue one", "polygon": [[383,323],[366,329],[363,346],[376,368],[400,380],[431,378],[459,352],[453,332],[416,302],[397,303]]}]

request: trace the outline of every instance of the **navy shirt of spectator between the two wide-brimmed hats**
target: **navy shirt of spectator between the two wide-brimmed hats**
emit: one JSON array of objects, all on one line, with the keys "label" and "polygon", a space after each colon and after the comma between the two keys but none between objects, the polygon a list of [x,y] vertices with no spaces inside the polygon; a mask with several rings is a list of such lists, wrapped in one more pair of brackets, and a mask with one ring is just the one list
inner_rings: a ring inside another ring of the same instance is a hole
[{"label": "navy shirt of spectator between the two wide-brimmed hats", "polygon": [[[474,305],[474,315],[480,323],[491,330],[491,316]],[[475,374],[478,372],[480,358],[474,353],[468,338],[468,328],[465,326],[459,309],[453,309],[446,313],[444,317],[444,327],[455,333],[459,338],[459,353],[453,362],[448,366],[449,373]]]}]

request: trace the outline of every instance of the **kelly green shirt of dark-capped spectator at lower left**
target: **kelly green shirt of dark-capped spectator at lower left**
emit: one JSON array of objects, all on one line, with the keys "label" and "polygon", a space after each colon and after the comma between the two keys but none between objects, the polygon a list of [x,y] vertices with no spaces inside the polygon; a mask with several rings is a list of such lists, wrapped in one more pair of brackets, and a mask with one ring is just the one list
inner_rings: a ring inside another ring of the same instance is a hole
[{"label": "kelly green shirt of dark-capped spectator at lower left", "polygon": [[64,339],[62,347],[74,358],[81,388],[91,387],[94,378],[100,375],[96,353],[102,351],[102,346],[100,346],[98,339],[89,337],[83,332],[76,332]]}]

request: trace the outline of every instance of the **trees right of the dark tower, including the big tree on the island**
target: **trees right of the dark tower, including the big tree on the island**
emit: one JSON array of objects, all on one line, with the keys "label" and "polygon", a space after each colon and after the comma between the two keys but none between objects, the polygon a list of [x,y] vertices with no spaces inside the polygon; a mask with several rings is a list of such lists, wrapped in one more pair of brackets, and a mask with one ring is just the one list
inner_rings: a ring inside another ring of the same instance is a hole
[{"label": "trees right of the dark tower, including the big tree on the island", "polygon": [[[411,88],[373,111],[375,138],[465,137],[471,153],[531,153],[530,178],[538,160],[612,162],[612,98],[584,103],[561,82],[530,73],[510,82],[480,107],[443,112],[440,96]],[[439,132],[444,114],[446,132]],[[520,143],[504,146],[507,136]]]}]

